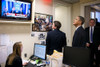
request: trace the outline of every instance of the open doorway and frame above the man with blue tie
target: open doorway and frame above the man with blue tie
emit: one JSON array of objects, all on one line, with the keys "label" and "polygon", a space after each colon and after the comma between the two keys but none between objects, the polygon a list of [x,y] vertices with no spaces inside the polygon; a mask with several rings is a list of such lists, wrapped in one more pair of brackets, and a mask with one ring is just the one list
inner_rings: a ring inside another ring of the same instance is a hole
[{"label": "open doorway and frame above the man with blue tie", "polygon": [[91,18],[93,19],[97,18],[98,23],[100,24],[100,1],[82,4],[81,15],[85,17],[85,24],[84,24],[85,28],[89,26],[89,20]]}]

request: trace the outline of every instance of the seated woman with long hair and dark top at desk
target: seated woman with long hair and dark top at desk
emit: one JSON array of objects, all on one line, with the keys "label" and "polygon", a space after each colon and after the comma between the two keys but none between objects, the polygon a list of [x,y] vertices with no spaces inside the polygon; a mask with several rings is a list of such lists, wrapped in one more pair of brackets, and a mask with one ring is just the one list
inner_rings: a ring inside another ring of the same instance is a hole
[{"label": "seated woman with long hair and dark top at desk", "polygon": [[23,67],[21,52],[22,43],[16,42],[13,46],[13,53],[11,53],[7,58],[5,67]]}]

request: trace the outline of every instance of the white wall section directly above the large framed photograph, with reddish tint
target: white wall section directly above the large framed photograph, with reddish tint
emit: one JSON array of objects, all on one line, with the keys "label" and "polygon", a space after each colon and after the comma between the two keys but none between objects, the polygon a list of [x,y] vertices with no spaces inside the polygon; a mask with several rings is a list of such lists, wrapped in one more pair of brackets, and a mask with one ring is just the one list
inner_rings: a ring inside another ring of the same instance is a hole
[{"label": "white wall section directly above the large framed photograph, with reddish tint", "polygon": [[53,2],[48,4],[45,0],[35,0],[35,12],[53,15]]}]

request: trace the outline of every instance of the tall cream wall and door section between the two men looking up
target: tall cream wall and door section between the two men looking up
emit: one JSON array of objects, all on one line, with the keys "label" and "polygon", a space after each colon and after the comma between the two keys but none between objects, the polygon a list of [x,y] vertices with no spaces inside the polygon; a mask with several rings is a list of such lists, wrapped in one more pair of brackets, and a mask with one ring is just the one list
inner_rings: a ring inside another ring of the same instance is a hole
[{"label": "tall cream wall and door section between the two men looking up", "polygon": [[62,23],[61,30],[66,33],[67,45],[71,46],[71,4],[56,1],[54,9],[55,20]]}]

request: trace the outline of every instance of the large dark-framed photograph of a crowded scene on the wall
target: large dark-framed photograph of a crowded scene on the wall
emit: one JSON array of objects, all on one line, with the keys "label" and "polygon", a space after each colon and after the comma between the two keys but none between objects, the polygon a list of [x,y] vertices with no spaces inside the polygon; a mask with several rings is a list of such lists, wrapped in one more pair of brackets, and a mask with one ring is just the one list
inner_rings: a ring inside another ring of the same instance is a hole
[{"label": "large dark-framed photograph of a crowded scene on the wall", "polygon": [[35,13],[32,31],[51,31],[53,16],[48,14]]}]

